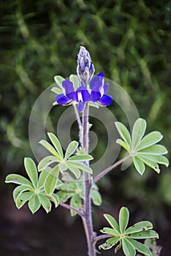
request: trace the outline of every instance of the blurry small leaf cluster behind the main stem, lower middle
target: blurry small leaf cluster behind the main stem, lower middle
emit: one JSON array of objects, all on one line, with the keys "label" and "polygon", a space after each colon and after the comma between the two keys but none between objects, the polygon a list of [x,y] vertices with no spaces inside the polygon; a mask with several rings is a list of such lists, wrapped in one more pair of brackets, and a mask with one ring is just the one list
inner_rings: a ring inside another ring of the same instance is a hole
[{"label": "blurry small leaf cluster behind the main stem, lower middle", "polygon": [[[80,182],[66,181],[58,187],[60,191],[56,194],[59,197],[60,202],[66,202],[70,198],[70,206],[77,208],[78,210],[83,209],[83,199],[84,199],[84,184]],[[91,187],[91,200],[95,206],[100,206],[102,204],[102,197],[99,193],[99,189],[96,184]],[[71,210],[71,216],[75,216],[77,213]]]}]

